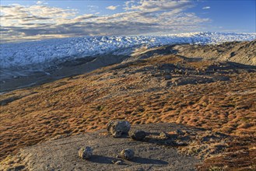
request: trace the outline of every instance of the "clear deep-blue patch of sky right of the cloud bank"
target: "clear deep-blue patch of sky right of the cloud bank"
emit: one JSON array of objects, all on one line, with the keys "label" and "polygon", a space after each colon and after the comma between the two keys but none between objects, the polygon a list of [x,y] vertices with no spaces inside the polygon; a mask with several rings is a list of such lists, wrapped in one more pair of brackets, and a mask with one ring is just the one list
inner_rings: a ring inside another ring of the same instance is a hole
[{"label": "clear deep-blue patch of sky right of the cloud bank", "polygon": [[[198,12],[198,16],[210,18],[212,22],[209,26],[213,27],[212,31],[256,32],[255,0],[212,0],[198,2],[197,4],[195,9],[189,10]],[[205,6],[209,6],[210,9],[205,9],[202,12],[202,8]],[[209,28],[209,30],[211,30],[211,28]]]}]

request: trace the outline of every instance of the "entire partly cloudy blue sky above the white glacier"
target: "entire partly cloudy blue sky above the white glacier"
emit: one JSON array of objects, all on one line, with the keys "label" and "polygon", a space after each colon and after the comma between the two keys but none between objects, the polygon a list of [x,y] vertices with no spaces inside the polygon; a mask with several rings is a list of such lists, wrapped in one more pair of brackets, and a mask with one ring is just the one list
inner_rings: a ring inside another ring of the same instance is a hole
[{"label": "entire partly cloudy blue sky above the white glacier", "polygon": [[1,0],[1,43],[47,38],[255,33],[255,0]]}]

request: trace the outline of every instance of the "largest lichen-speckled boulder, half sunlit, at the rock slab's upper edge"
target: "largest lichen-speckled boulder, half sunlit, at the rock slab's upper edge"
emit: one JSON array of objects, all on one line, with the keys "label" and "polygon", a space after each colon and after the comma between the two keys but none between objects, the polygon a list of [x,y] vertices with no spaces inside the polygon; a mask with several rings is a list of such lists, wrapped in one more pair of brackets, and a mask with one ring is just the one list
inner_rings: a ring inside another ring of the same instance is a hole
[{"label": "largest lichen-speckled boulder, half sunlit, at the rock slab's upper edge", "polygon": [[131,124],[126,120],[110,120],[107,124],[107,131],[114,137],[121,137],[121,134],[127,134],[130,131]]}]

